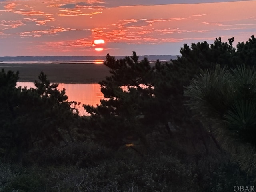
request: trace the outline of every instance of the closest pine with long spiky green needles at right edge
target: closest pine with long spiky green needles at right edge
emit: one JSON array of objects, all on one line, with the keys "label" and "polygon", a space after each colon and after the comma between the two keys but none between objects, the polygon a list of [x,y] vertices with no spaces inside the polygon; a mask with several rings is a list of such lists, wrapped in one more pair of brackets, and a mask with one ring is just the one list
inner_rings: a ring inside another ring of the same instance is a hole
[{"label": "closest pine with long spiky green needles at right edge", "polygon": [[245,65],[235,69],[206,70],[186,88],[188,105],[242,168],[254,172],[256,125],[256,71]]}]

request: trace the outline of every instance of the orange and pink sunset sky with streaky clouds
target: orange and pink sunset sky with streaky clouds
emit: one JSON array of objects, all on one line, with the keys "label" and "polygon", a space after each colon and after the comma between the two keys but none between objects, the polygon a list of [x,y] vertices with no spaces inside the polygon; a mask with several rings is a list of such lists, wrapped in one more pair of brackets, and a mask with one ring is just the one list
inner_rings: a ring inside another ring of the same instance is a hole
[{"label": "orange and pink sunset sky with streaky clouds", "polygon": [[218,37],[236,45],[256,36],[255,8],[256,0],[0,0],[0,56],[178,55]]}]

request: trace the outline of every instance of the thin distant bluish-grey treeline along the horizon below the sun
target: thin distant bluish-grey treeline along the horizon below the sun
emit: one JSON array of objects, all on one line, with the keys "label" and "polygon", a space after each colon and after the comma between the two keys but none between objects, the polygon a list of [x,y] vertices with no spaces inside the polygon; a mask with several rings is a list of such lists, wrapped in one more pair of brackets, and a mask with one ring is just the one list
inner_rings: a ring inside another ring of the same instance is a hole
[{"label": "thin distant bluish-grey treeline along the horizon below the sun", "polygon": [[[122,59],[125,56],[115,56],[116,59]],[[176,59],[175,55],[143,55],[140,59],[147,57],[148,60],[171,60]],[[0,57],[2,62],[10,61],[83,61],[83,60],[104,60],[106,56],[16,56],[16,57]]]}]

